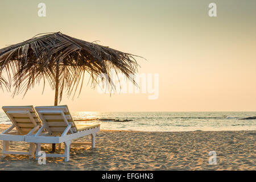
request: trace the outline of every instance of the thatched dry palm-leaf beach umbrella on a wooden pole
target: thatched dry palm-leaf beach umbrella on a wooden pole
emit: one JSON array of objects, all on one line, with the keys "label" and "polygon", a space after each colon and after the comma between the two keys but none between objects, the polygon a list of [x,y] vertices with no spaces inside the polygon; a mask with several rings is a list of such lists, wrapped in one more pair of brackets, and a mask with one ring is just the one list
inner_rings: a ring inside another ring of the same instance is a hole
[{"label": "thatched dry palm-leaf beach umbrella on a wooden pole", "polygon": [[0,49],[0,88],[10,90],[13,85],[13,96],[21,92],[26,94],[40,80],[44,85],[48,81],[55,89],[54,105],[57,105],[63,90],[70,96],[76,93],[81,83],[81,92],[85,72],[90,74],[93,86],[97,85],[97,76],[101,73],[108,75],[108,83],[112,84],[112,69],[115,73],[122,72],[135,84],[130,76],[137,72],[135,55],[72,38],[61,32],[39,35]]}]

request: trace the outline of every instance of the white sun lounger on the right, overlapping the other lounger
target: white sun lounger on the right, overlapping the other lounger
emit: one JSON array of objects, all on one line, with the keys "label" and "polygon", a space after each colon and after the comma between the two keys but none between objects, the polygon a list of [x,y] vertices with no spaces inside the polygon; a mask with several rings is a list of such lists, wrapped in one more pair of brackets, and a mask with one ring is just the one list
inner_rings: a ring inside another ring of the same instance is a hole
[{"label": "white sun lounger on the right, overlapping the other lounger", "polygon": [[[27,136],[26,142],[36,143],[36,158],[39,157],[41,143],[65,144],[65,154],[46,154],[46,157],[64,157],[69,160],[69,148],[73,139],[91,135],[92,142],[76,142],[72,144],[90,144],[95,147],[96,133],[100,131],[100,125],[77,124],[73,121],[67,105],[35,107],[43,122],[43,126],[35,135]],[[43,133],[46,129],[47,133]]]}]

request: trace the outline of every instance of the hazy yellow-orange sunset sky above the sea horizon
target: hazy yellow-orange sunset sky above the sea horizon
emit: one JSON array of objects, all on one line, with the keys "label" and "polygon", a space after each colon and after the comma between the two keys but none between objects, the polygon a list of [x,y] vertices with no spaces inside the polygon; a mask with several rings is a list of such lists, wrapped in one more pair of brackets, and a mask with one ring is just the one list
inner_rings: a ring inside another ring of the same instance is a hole
[{"label": "hazy yellow-orange sunset sky above the sea horizon", "polygon": [[[216,17],[208,15],[212,2]],[[110,96],[84,84],[79,97],[60,102],[72,111],[255,111],[255,7],[254,0],[2,0],[0,48],[61,31],[143,56],[139,74],[158,74],[156,99],[148,90]],[[14,98],[0,90],[0,106],[53,105],[54,90],[42,90],[40,84]]]}]

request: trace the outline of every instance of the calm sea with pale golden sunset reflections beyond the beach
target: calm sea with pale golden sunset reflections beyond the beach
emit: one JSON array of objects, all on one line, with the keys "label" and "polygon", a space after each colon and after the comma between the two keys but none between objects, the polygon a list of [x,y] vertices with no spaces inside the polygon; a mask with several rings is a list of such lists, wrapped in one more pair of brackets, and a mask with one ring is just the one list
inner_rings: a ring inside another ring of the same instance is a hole
[{"label": "calm sea with pale golden sunset reflections beyond the beach", "polygon": [[[101,129],[137,131],[223,131],[256,130],[256,120],[241,118],[256,116],[256,112],[75,112],[74,120],[100,123]],[[131,121],[127,121],[127,119]],[[127,121],[127,122],[117,122]],[[0,123],[11,123],[0,112]]]}]

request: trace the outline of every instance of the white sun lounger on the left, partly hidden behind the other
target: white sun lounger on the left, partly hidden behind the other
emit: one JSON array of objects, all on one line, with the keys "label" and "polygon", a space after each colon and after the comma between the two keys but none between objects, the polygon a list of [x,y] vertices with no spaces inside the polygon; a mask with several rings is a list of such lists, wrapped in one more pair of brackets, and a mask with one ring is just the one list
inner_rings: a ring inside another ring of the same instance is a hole
[{"label": "white sun lounger on the left, partly hidden behind the other", "polygon": [[[30,159],[35,155],[35,144],[30,143],[29,152],[9,151],[10,141],[25,142],[25,137],[34,134],[42,126],[33,106],[3,106],[7,117],[13,125],[0,134],[0,140],[3,140],[3,158],[5,154],[29,155]],[[16,129],[16,131],[12,131]]]}]

